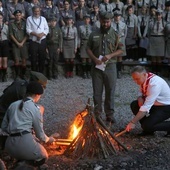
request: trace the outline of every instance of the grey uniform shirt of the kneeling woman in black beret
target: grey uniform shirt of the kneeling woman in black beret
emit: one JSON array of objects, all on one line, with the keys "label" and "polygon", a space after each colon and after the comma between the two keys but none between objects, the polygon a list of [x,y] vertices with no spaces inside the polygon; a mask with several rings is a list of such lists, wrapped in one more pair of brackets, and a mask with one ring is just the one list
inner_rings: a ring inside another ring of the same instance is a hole
[{"label": "grey uniform shirt of the kneeling woman in black beret", "polygon": [[14,134],[23,131],[35,132],[35,135],[41,141],[47,142],[49,138],[43,130],[43,116],[40,113],[39,107],[33,102],[33,99],[24,102],[22,111],[19,110],[19,105],[22,100],[12,103],[4,116],[1,128],[3,131]]}]

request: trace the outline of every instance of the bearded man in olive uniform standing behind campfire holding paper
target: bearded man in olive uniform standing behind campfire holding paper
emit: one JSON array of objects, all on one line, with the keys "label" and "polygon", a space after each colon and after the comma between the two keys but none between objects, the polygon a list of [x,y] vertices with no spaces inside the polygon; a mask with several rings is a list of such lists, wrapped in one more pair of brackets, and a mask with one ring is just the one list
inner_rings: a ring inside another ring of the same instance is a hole
[{"label": "bearded man in olive uniform standing behind campfire holding paper", "polygon": [[[123,44],[111,27],[112,14],[100,16],[101,27],[90,34],[87,52],[93,61],[92,83],[95,114],[102,113],[103,86],[105,88],[104,112],[106,121],[114,123],[114,93],[116,87],[116,60],[123,53]],[[103,69],[100,67],[104,65]],[[99,66],[100,69],[97,67]]]}]

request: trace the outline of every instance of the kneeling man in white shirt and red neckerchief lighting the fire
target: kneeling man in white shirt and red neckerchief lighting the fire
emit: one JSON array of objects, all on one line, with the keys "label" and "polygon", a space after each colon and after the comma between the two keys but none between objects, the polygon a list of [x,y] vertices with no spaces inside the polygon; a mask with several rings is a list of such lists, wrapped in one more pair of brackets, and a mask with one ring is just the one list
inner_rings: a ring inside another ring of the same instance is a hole
[{"label": "kneeling man in white shirt and red neckerchief lighting the fire", "polygon": [[135,128],[139,121],[143,129],[141,135],[150,135],[155,131],[167,131],[170,135],[170,88],[161,77],[146,72],[142,66],[133,68],[132,78],[141,87],[141,96],[131,103],[135,117],[126,127],[127,131]]}]

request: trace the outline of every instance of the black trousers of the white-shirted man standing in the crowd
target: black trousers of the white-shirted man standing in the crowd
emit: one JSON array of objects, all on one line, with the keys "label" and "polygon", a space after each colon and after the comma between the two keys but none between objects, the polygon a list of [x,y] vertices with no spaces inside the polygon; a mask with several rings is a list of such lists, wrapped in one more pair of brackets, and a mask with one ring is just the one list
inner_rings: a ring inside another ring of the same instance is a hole
[{"label": "black trousers of the white-shirted man standing in the crowd", "polygon": [[46,59],[46,39],[41,43],[30,41],[31,70],[44,73]]}]

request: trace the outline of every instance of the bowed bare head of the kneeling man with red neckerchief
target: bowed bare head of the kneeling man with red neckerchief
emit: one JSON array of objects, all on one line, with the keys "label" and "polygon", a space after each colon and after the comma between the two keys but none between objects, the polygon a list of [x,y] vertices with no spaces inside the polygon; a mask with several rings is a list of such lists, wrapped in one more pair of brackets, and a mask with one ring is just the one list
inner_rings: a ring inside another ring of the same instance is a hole
[{"label": "bowed bare head of the kneeling man with red neckerchief", "polygon": [[147,77],[146,69],[142,66],[136,66],[131,71],[132,78],[136,84],[141,86]]}]

